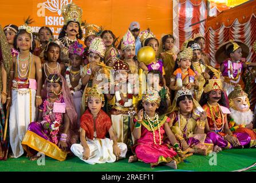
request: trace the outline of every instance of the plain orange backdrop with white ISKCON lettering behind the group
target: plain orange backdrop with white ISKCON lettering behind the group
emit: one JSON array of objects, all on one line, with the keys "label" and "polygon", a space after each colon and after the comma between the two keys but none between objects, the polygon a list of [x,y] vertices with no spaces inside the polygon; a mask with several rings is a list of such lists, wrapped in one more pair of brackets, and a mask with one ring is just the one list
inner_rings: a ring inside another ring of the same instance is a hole
[{"label": "plain orange backdrop with white ISKCON lettering behind the group", "polygon": [[[70,0],[11,0],[0,1],[0,24],[23,23],[29,15],[33,18],[34,31],[41,26],[49,26],[57,35],[63,26],[60,13],[61,2]],[[132,21],[138,21],[141,30],[150,28],[160,38],[163,33],[172,34],[171,0],[73,0],[83,10],[83,21],[103,26],[112,30],[117,37],[122,37]],[[51,7],[47,9],[46,7]],[[58,11],[59,10],[59,11]],[[55,12],[53,12],[55,11]]]}]

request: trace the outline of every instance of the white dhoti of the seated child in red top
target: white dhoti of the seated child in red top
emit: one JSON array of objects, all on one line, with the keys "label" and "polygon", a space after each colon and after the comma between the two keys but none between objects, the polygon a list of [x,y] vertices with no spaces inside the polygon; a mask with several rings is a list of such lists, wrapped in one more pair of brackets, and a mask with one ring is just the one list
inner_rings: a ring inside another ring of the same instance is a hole
[{"label": "white dhoti of the seated child in red top", "polygon": [[[76,155],[80,160],[94,165],[94,164],[104,164],[105,162],[115,162],[116,156],[113,153],[113,140],[109,138],[104,139],[95,139],[88,140],[87,144],[90,149],[90,156],[88,160],[84,160],[82,158],[82,154],[84,153],[84,148],[81,144],[73,144],[70,150]],[[119,159],[125,158],[125,154],[127,153],[127,145],[124,143],[117,143],[117,146],[121,150],[121,154]]]}]

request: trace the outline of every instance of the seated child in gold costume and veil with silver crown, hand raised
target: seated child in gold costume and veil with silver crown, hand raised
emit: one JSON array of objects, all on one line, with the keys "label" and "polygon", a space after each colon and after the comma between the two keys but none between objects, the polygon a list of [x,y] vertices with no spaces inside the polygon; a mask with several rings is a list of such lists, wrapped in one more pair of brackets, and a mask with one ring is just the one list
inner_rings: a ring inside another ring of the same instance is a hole
[{"label": "seated child in gold costume and veil with silver crown, hand raised", "polygon": [[169,112],[171,113],[168,125],[178,141],[175,147],[181,148],[184,154],[188,153],[186,156],[190,156],[191,153],[206,156],[212,151],[213,144],[204,143],[206,113],[192,97],[190,90],[183,87],[176,93],[167,113]]}]

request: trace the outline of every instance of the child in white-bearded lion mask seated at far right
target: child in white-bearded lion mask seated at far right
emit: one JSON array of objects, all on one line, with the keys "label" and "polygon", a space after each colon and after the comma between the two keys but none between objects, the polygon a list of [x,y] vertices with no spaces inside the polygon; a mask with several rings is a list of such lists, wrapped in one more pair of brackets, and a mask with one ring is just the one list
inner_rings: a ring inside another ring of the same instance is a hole
[{"label": "child in white-bearded lion mask seated at far right", "polygon": [[241,86],[235,86],[229,94],[229,128],[233,133],[246,133],[251,137],[250,147],[256,146],[256,130],[253,129],[253,112],[248,94]]}]

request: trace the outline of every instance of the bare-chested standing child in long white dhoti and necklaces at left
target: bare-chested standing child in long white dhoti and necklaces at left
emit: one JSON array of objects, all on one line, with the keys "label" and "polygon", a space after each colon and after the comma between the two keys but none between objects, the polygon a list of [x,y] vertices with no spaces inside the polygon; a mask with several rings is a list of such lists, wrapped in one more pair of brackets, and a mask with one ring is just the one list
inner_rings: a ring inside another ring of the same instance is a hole
[{"label": "bare-chested standing child in long white dhoti and necklaces at left", "polygon": [[14,47],[17,47],[19,54],[11,62],[7,97],[7,108],[10,106],[10,145],[15,158],[22,156],[21,141],[29,123],[36,120],[36,107],[42,104],[42,66],[40,58],[31,54],[34,42],[29,23],[31,19],[19,27],[14,39]]}]

